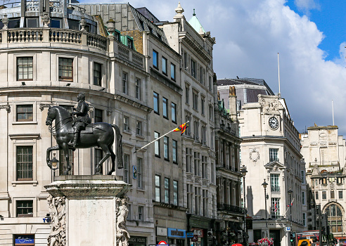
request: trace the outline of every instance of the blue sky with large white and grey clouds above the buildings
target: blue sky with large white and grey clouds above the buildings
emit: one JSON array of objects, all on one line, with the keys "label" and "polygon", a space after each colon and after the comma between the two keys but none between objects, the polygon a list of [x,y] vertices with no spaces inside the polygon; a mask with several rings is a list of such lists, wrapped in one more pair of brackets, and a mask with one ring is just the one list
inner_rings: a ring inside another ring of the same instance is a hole
[{"label": "blue sky with large white and grey clouds above the buildings", "polygon": [[[94,0],[82,0],[92,2]],[[100,0],[103,1],[103,0]],[[110,1],[110,0],[104,0]],[[127,1],[126,1],[127,2]],[[181,0],[216,38],[218,78],[264,79],[281,96],[298,131],[333,124],[346,136],[346,0]],[[133,0],[159,20],[173,21],[176,0]]]}]

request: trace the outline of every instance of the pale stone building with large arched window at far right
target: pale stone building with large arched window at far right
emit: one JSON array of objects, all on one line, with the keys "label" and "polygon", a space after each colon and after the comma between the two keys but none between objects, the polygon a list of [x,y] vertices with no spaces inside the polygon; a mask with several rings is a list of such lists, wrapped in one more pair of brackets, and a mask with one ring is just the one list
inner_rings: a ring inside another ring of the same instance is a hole
[{"label": "pale stone building with large arched window at far right", "polygon": [[[307,202],[313,208],[321,205],[321,212],[328,214],[331,233],[345,241],[345,139],[338,135],[337,126],[315,124],[301,134],[300,143],[307,169]],[[314,218],[310,214],[309,229],[317,226]]]}]

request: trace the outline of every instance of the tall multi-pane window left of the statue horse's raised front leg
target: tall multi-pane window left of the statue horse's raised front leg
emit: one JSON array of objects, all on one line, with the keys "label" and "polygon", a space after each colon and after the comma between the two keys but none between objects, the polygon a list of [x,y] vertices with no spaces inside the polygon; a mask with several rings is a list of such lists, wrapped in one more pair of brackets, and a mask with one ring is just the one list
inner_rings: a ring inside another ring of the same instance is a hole
[{"label": "tall multi-pane window left of the statue horse's raised front leg", "polygon": [[17,180],[32,180],[32,146],[17,146]]}]

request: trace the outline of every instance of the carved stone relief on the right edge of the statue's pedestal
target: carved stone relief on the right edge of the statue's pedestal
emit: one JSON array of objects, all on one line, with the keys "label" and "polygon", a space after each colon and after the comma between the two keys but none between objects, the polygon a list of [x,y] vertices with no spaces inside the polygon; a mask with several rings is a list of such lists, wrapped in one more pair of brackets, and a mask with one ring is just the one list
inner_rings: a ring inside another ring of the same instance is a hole
[{"label": "carved stone relief on the right edge of the statue's pedestal", "polygon": [[116,198],[117,201],[117,246],[128,246],[129,245],[129,232],[126,227],[126,218],[129,214],[129,209],[127,208],[127,202],[129,198],[124,196],[123,198]]}]

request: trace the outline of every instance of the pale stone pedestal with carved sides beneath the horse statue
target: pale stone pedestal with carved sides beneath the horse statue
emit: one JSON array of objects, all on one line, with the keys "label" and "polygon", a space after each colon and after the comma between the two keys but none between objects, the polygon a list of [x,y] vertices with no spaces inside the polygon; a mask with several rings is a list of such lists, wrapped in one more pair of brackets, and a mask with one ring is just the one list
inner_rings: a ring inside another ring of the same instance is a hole
[{"label": "pale stone pedestal with carved sides beneath the horse statue", "polygon": [[127,245],[129,184],[112,175],[66,175],[44,187],[50,194],[48,245]]}]

